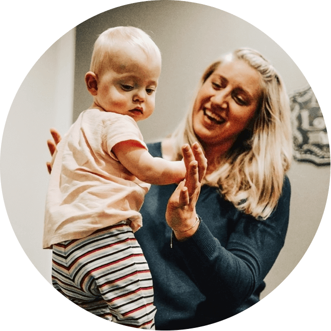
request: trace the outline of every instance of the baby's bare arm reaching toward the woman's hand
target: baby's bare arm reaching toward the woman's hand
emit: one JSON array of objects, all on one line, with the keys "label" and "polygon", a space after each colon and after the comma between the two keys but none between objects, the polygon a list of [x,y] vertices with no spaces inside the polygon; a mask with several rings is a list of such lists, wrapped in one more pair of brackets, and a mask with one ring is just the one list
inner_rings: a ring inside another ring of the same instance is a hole
[{"label": "baby's bare arm reaching toward the woman's hand", "polygon": [[154,185],[179,183],[185,178],[183,161],[167,161],[154,158],[136,140],[126,140],[112,147],[119,162],[142,182]]}]

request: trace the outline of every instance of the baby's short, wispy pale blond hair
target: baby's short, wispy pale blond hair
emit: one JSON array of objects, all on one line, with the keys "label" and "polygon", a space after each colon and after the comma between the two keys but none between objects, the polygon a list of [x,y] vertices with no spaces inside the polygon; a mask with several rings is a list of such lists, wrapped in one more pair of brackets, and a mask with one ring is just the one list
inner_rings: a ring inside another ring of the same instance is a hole
[{"label": "baby's short, wispy pale blond hair", "polygon": [[160,56],[161,52],[152,38],[138,27],[110,27],[99,35],[94,44],[89,70],[99,75],[112,61],[112,50],[115,46],[128,43],[132,47],[140,47],[146,55]]}]

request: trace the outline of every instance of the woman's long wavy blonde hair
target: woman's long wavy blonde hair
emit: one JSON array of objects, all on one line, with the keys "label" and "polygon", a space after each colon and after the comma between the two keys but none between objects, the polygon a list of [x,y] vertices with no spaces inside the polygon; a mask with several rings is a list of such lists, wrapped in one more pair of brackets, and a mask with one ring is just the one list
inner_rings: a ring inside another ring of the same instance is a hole
[{"label": "woman's long wavy blonde hair", "polygon": [[[205,70],[200,87],[224,58]],[[206,176],[205,183],[218,187],[224,198],[244,213],[263,220],[277,205],[292,160],[289,101],[281,77],[259,52],[240,48],[232,58],[245,61],[260,73],[263,92],[253,125],[239,134],[227,158]],[[175,159],[181,158],[180,146],[199,141],[193,131],[192,108],[171,135]]]}]

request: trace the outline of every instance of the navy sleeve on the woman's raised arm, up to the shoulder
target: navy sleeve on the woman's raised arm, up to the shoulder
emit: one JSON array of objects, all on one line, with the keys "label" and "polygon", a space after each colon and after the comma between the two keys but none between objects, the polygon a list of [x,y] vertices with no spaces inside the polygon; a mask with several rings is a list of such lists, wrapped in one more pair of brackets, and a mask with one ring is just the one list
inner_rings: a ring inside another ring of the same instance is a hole
[{"label": "navy sleeve on the woman's raised arm, up to the shoulder", "polygon": [[226,245],[201,220],[185,242],[173,240],[191,277],[208,299],[224,300],[235,309],[247,300],[273,266],[284,245],[289,219],[290,183],[285,178],[278,205],[265,221],[236,210]]}]

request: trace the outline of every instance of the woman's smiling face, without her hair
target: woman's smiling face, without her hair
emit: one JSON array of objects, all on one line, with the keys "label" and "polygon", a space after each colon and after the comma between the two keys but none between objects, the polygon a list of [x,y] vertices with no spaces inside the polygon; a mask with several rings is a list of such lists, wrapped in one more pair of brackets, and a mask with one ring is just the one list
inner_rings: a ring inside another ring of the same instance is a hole
[{"label": "woman's smiling face, without her hair", "polygon": [[262,92],[260,81],[260,74],[238,59],[229,59],[208,77],[199,89],[192,117],[202,145],[232,146],[254,117]]}]

